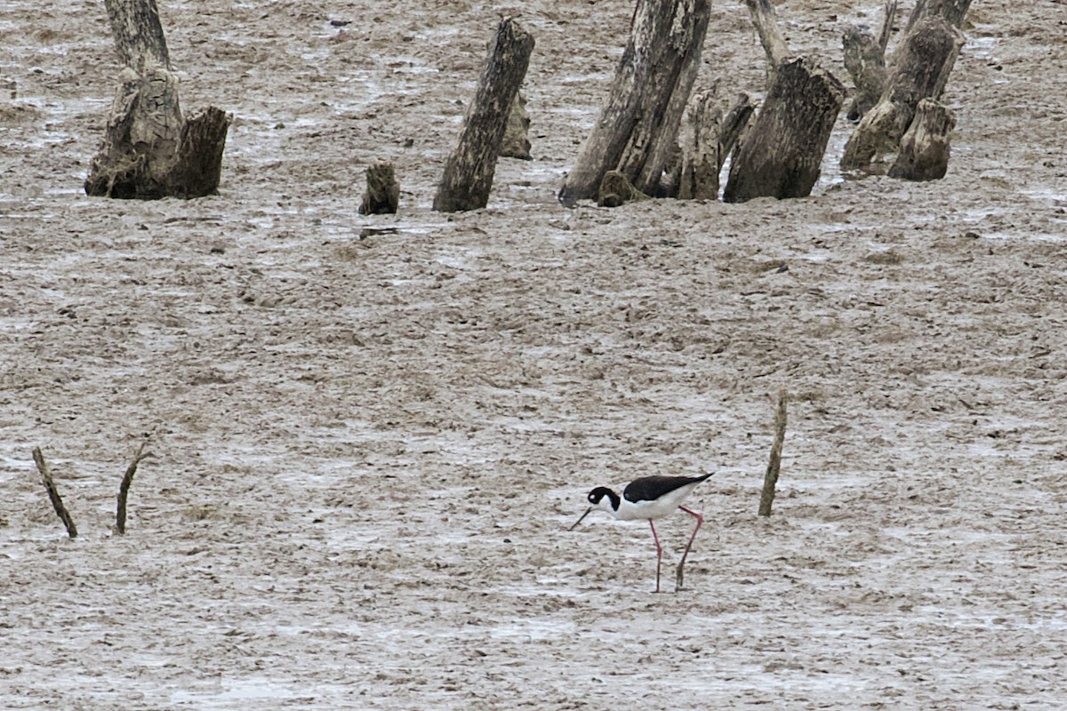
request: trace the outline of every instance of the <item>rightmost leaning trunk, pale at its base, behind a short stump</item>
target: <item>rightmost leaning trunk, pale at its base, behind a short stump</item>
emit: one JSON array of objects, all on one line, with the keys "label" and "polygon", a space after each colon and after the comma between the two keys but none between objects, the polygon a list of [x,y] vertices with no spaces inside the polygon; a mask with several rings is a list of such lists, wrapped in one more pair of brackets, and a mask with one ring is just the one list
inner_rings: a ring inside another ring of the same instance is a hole
[{"label": "rightmost leaning trunk, pale at its base, behind a short stump", "polygon": [[853,131],[841,167],[866,168],[876,156],[895,152],[923,99],[944,90],[964,35],[941,17],[921,20],[897,48],[881,98]]}]

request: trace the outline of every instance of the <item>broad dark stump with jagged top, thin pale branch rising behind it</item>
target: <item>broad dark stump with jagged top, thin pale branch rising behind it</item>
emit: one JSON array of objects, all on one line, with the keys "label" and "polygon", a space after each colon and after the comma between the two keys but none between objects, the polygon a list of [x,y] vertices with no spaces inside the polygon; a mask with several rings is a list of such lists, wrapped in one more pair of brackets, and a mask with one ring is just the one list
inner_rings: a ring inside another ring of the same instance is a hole
[{"label": "broad dark stump with jagged top, thin pale branch rising behind it", "polygon": [[841,82],[813,61],[782,63],[755,125],[730,164],[722,199],[810,195],[844,99]]}]

